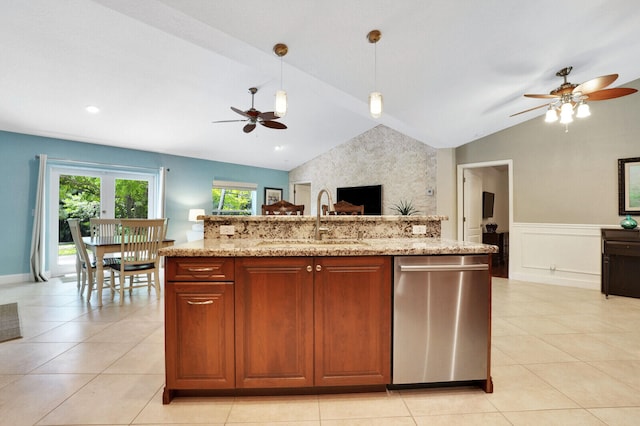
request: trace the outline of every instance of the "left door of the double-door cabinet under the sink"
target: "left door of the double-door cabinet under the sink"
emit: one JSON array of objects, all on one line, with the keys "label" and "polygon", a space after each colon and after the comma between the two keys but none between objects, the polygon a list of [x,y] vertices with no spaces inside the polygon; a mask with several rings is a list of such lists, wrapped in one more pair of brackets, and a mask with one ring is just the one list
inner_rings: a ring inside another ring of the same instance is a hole
[{"label": "left door of the double-door cabinet under the sink", "polygon": [[313,259],[236,259],[236,386],[313,385]]}]

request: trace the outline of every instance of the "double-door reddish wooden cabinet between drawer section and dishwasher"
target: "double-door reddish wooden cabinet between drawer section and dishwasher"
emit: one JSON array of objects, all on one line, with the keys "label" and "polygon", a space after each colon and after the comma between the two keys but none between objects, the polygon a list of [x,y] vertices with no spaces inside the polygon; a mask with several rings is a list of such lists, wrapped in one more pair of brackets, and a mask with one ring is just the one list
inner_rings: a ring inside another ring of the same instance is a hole
[{"label": "double-door reddish wooden cabinet between drawer section and dishwasher", "polygon": [[390,257],[236,260],[238,387],[386,384],[390,369]]}]

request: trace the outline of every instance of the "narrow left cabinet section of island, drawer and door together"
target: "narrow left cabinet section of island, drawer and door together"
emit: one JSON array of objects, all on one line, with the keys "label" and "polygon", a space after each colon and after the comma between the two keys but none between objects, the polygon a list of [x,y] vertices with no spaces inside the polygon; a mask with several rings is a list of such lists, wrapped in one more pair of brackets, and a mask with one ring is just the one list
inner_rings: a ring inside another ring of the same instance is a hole
[{"label": "narrow left cabinet section of island, drawer and door together", "polygon": [[233,259],[167,258],[163,402],[235,387]]}]

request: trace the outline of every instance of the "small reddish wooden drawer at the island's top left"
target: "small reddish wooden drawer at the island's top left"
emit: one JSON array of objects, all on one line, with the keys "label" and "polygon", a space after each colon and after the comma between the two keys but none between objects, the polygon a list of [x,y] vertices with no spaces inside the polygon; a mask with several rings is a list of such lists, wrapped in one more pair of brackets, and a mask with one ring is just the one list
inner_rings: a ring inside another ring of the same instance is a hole
[{"label": "small reddish wooden drawer at the island's top left", "polygon": [[234,259],[215,257],[168,257],[167,281],[233,281]]}]

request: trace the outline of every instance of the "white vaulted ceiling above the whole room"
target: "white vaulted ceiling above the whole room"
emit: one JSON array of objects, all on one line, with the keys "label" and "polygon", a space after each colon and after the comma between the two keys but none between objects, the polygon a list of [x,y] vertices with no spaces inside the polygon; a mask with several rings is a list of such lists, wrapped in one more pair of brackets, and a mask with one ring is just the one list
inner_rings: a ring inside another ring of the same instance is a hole
[{"label": "white vaulted ceiling above the whole room", "polygon": [[[544,114],[509,117],[569,65],[574,83],[640,78],[635,0],[0,2],[0,129],[280,170],[378,124],[468,143]],[[287,130],[212,123],[242,119],[249,87],[273,110],[281,69]]]}]

